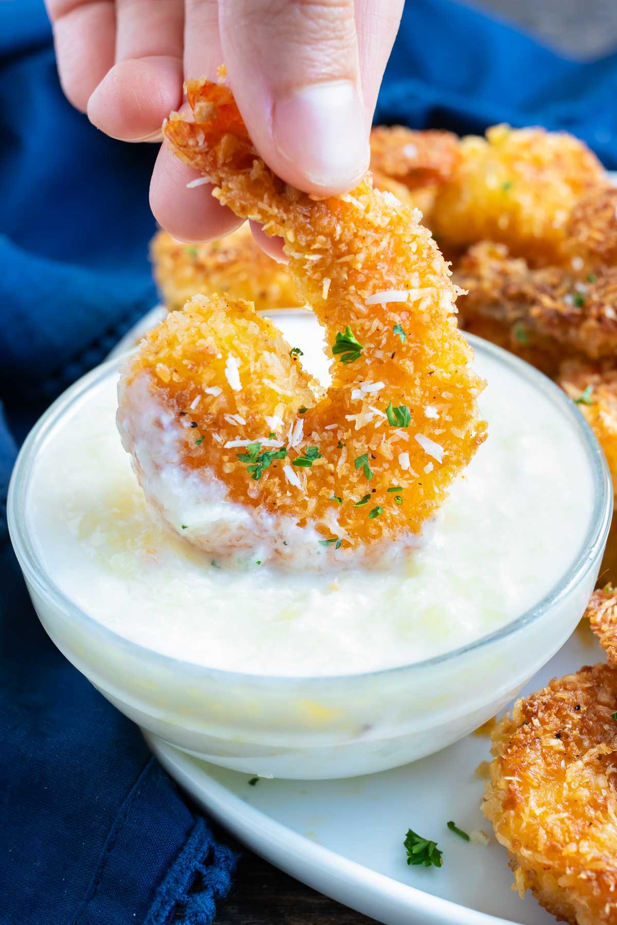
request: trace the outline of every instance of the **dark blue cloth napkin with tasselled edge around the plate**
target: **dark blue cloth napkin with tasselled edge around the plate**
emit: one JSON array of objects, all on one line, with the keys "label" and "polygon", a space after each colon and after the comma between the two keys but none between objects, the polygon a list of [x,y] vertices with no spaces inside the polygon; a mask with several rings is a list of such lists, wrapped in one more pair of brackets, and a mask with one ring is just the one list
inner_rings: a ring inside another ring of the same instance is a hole
[{"label": "dark blue cloth napkin with tasselled edge around the plate", "polygon": [[[617,56],[566,61],[449,0],[413,0],[376,120],[566,128],[617,167]],[[65,101],[41,0],[0,3],[0,922],[206,925],[235,857],[31,608],[6,488],[36,417],[155,302],[154,146]]]}]

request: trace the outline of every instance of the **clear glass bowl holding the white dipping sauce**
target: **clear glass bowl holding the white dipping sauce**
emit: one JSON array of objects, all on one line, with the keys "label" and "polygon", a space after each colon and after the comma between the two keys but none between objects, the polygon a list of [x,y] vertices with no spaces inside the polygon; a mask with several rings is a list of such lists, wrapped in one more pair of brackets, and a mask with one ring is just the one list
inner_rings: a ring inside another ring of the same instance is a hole
[{"label": "clear glass bowl holding the white dipping sauce", "polygon": [[[33,462],[74,402],[117,360],[65,392],[32,429],[11,479],[8,524],[34,607],[56,646],[131,720],[191,755],[265,777],[335,778],[383,771],[449,746],[498,712],[574,630],[611,523],[611,477],[583,415],[546,376],[469,338],[541,389],[585,447],[593,514],[574,561],[546,597],[496,632],[445,655],[376,672],[265,676],[167,657],[94,621],[56,586],[29,536]],[[574,550],[573,550],[574,551]]]}]

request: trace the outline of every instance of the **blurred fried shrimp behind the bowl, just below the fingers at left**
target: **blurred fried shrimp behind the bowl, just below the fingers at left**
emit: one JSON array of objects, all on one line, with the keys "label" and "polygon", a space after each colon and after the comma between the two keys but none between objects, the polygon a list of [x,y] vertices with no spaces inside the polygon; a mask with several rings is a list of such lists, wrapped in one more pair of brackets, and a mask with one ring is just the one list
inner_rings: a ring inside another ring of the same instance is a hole
[{"label": "blurred fried shrimp behind the bowl, just below the fingers at left", "polygon": [[159,231],[150,253],[154,278],[169,311],[182,308],[197,292],[227,292],[232,299],[254,302],[258,311],[301,304],[285,266],[255,243],[248,225],[204,244],[183,244]]}]

